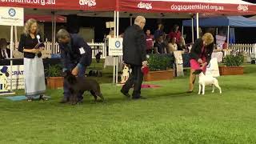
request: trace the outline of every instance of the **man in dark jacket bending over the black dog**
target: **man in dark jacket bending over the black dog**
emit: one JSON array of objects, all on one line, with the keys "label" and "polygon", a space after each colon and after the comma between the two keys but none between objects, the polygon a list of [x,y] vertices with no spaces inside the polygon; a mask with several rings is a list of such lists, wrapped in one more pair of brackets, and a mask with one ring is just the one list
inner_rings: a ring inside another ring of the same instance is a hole
[{"label": "man in dark jacket bending over the black dog", "polygon": [[[58,43],[61,50],[63,71],[70,70],[71,73],[78,77],[84,77],[86,66],[91,63],[90,46],[78,34],[69,34],[66,30],[58,30]],[[69,101],[70,90],[64,82],[64,98],[61,103]],[[78,95],[78,102],[82,102],[82,93]]]}]

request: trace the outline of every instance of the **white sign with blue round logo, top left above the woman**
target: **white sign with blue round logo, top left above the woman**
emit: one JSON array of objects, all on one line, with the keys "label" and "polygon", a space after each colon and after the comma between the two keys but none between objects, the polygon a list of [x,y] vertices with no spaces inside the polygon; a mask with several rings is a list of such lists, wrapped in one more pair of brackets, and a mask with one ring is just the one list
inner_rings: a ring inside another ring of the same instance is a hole
[{"label": "white sign with blue round logo, top left above the woman", "polygon": [[23,26],[24,9],[18,7],[0,6],[0,25],[4,26]]}]

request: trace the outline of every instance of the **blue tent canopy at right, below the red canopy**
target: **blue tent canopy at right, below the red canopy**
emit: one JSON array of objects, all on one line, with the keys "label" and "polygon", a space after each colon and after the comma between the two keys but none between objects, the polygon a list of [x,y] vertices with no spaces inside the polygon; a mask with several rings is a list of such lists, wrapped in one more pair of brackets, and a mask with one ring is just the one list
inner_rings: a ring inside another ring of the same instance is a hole
[{"label": "blue tent canopy at right, below the red canopy", "polygon": [[[191,26],[192,20],[182,21],[183,26]],[[196,20],[193,20],[194,26],[196,26]],[[256,20],[245,18],[242,16],[222,16],[213,18],[199,18],[199,26],[232,26],[232,27],[256,27]]]}]

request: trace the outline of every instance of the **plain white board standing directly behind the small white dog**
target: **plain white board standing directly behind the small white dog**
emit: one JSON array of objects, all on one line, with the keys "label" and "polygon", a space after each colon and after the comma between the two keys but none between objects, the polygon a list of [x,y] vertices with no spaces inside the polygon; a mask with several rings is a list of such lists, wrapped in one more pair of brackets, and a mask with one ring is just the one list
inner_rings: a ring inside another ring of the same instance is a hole
[{"label": "plain white board standing directly behind the small white dog", "polygon": [[206,75],[210,75],[212,77],[218,77],[219,76],[218,59],[217,58],[211,58],[210,59],[210,63],[206,67]]}]

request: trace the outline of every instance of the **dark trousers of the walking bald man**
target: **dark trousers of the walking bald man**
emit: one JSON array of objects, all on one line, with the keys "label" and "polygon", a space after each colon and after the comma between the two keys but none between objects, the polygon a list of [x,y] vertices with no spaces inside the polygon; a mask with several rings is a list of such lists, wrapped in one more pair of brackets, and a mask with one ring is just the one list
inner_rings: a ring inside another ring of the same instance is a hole
[{"label": "dark trousers of the walking bald man", "polygon": [[132,96],[133,98],[138,98],[141,96],[141,87],[143,81],[142,66],[130,65],[130,68],[132,72],[125,85],[122,86],[122,90],[128,93],[130,88],[134,86],[134,92]]}]

